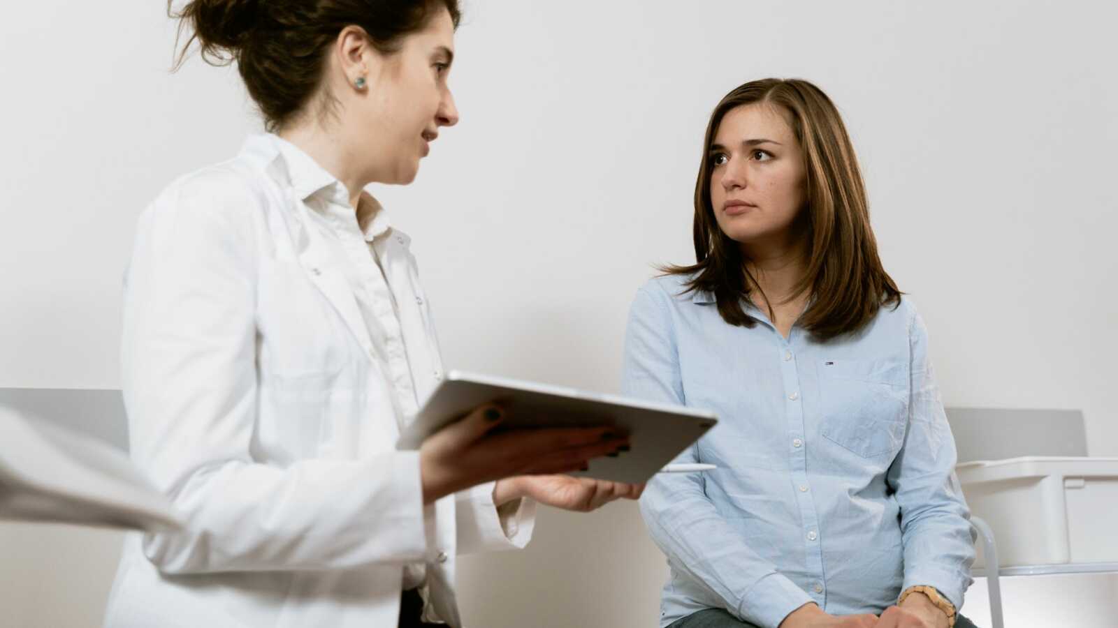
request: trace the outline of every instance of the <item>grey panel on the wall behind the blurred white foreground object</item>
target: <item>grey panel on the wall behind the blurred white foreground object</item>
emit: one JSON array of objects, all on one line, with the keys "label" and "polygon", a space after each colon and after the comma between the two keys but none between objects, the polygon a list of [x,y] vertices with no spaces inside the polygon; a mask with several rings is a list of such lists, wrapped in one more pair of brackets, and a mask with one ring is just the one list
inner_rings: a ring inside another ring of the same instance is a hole
[{"label": "grey panel on the wall behind the blurred white foreground object", "polygon": [[120,390],[0,388],[0,406],[129,449],[129,421]]}]

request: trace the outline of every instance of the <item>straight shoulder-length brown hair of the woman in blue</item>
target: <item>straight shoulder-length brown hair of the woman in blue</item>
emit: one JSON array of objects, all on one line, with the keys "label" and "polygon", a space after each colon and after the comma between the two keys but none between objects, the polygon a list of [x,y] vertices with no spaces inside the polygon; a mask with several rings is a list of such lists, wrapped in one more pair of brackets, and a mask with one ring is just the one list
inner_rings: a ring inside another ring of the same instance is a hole
[{"label": "straight shoulder-length brown hair of the woman in blue", "polygon": [[804,154],[807,173],[805,237],[809,254],[804,276],[793,291],[811,303],[798,324],[819,340],[854,332],[869,323],[882,305],[896,307],[901,292],[885,274],[870,229],[865,184],[842,116],[822,89],[802,79],[752,80],[727,94],[710,116],[695,181],[694,246],[697,263],[665,266],[669,275],[686,275],[688,292],[714,296],[722,320],[751,327],[757,322],[742,304],[750,298],[751,279],[738,242],[714,220],[710,201],[710,148],[726,114],[741,105],[766,103],[786,114]]}]

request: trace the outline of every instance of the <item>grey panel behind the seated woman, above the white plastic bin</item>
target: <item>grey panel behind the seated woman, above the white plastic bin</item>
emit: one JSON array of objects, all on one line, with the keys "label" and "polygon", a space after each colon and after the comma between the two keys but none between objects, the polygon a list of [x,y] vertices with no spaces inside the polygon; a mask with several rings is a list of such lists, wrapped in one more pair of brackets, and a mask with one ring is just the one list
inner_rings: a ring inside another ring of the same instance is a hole
[{"label": "grey panel behind the seated woman, above the white plastic bin", "polygon": [[959,463],[1022,456],[1087,456],[1080,410],[946,408]]}]

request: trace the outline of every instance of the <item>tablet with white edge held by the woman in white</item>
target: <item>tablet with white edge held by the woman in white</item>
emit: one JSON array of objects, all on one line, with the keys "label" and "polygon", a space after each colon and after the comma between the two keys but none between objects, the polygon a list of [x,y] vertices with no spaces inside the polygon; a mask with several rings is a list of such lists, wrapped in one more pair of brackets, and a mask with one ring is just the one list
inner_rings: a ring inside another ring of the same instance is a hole
[{"label": "tablet with white edge held by the woman in white", "polygon": [[452,371],[405,428],[396,448],[417,449],[427,436],[492,401],[508,405],[509,416],[502,424],[508,428],[625,429],[629,451],[590,460],[589,470],[570,474],[614,482],[646,482],[718,422],[713,412],[683,406]]}]

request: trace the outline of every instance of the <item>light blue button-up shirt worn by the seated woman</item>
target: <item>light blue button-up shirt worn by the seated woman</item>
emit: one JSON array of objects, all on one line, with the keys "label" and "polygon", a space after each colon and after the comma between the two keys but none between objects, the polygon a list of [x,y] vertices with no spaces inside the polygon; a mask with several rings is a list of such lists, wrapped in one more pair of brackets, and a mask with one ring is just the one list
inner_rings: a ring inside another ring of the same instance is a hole
[{"label": "light blue button-up shirt worn by the seated woman", "polygon": [[661,626],[704,608],[762,628],[808,602],[879,613],[917,584],[960,608],[974,536],[913,305],[830,342],[785,339],[756,308],[752,329],[727,324],[683,280],[637,293],[623,374],[627,396],[720,420],[675,460],[718,469],[656,475],[641,499],[671,567]]}]

